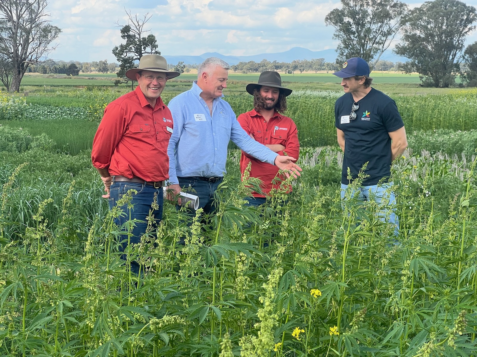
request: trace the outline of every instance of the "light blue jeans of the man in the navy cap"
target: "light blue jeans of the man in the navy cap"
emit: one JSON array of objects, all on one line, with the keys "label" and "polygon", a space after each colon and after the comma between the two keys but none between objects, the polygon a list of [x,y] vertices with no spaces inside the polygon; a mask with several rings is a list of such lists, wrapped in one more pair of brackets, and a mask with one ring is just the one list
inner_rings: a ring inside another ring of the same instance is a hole
[{"label": "light blue jeans of the man in the navy cap", "polygon": [[[391,190],[393,186],[392,182],[387,182],[380,185],[372,186],[360,186],[358,188],[353,188],[351,193],[347,193],[348,185],[341,184],[341,199],[344,201],[346,199],[354,198],[355,195],[358,195],[358,200],[360,201],[375,201],[378,205],[382,206],[378,217],[387,223],[394,225],[394,236],[399,236],[399,218],[395,213],[396,206],[396,197],[394,192]],[[381,202],[384,201],[382,204]],[[386,206],[386,207],[384,207]]]}]

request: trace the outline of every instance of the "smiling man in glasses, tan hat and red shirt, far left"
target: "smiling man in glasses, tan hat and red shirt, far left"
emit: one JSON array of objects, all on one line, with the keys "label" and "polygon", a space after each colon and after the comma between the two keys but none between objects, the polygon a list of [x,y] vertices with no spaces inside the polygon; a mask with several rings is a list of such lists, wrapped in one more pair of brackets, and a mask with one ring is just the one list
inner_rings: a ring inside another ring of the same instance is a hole
[{"label": "smiling man in glasses, tan hat and red shirt, far left", "polygon": [[[169,178],[167,145],[173,121],[161,93],[167,79],[178,75],[167,70],[162,56],[141,57],[139,67],[126,72],[126,77],[137,80],[138,86],[108,104],[94,136],[91,158],[103,180],[103,198],[108,198],[109,208],[129,190],[137,191],[132,193],[133,208],[120,202],[124,213],[114,218],[119,227],[130,219],[139,220],[132,228],[132,236],[121,235],[122,251],[129,243],[140,242],[146,233],[149,211],[156,223],[162,219],[163,186]],[[140,268],[137,262],[131,263],[131,271],[136,274]]]}]

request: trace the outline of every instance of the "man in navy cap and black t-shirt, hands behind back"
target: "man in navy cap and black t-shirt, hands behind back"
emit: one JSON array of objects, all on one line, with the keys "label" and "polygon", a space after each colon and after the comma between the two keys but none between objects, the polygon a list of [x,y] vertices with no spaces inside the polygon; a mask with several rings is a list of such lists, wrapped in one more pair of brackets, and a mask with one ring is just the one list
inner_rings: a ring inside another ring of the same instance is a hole
[{"label": "man in navy cap and black t-shirt, hands behind back", "polygon": [[[342,70],[333,73],[342,78],[345,92],[334,107],[338,144],[344,151],[341,197],[358,194],[362,200],[374,199],[378,204],[384,201],[392,207],[395,197],[393,183],[389,182],[391,162],[407,147],[406,131],[394,100],[370,87],[373,79],[369,73],[368,64],[360,57],[347,60]],[[345,195],[365,164],[363,186]],[[394,224],[394,235],[398,236],[399,221],[394,210],[385,209],[381,216]]]}]

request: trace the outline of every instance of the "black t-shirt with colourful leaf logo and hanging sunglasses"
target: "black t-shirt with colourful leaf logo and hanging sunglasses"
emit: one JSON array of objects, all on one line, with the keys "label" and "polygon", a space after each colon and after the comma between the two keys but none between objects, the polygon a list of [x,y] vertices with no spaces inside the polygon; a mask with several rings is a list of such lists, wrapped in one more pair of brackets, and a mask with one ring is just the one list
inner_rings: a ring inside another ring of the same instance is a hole
[{"label": "black t-shirt with colourful leaf logo and hanging sunglasses", "polygon": [[[396,103],[383,92],[374,88],[358,101],[356,119],[350,120],[353,105],[351,93],[345,93],[334,106],[335,126],[344,133],[344,159],[341,182],[345,185],[358,177],[364,163],[369,175],[363,185],[376,185],[391,175],[391,138],[389,132],[404,127]],[[347,178],[350,168],[352,179]]]}]

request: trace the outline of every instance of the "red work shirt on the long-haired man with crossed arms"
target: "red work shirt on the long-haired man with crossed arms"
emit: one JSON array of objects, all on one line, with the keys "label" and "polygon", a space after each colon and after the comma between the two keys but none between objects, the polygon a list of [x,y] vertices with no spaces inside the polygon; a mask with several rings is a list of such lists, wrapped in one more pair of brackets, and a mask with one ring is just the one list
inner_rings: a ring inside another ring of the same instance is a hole
[{"label": "red work shirt on the long-haired man with crossed arms", "polygon": [[[295,159],[298,159],[300,153],[300,144],[298,143],[298,131],[295,123],[289,117],[281,115],[275,111],[273,117],[270,118],[268,123],[263,117],[255,111],[250,110],[246,113],[240,114],[237,118],[242,128],[251,134],[255,140],[259,143],[268,144],[280,144],[285,147],[283,151],[278,152],[279,155],[284,156],[285,153]],[[260,186],[265,195],[260,195],[257,192],[253,192],[254,197],[266,197],[270,193],[272,188],[279,188],[280,183],[273,185],[272,180],[277,176],[278,168],[275,165],[271,165],[267,162],[262,162],[250,156],[246,152],[242,151],[240,157],[240,171],[243,175],[247,165],[251,162],[250,177],[259,178],[263,184]],[[279,178],[284,180],[286,177],[280,175]],[[291,185],[288,188],[288,192],[291,191]]]}]

